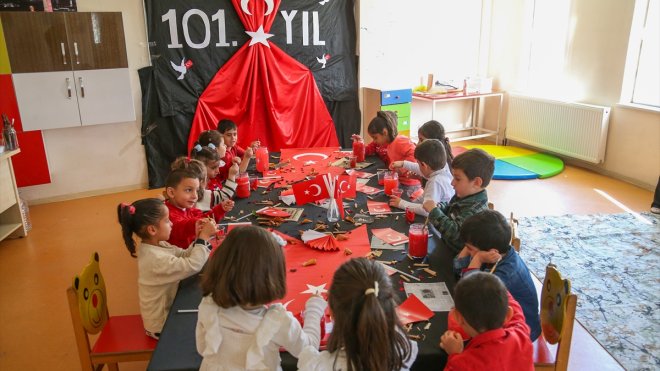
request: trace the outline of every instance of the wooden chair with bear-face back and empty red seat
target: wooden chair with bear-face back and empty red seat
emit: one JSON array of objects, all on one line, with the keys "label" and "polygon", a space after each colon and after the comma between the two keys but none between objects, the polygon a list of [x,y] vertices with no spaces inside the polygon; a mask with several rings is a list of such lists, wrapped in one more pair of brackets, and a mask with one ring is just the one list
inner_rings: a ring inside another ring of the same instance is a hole
[{"label": "wooden chair with bear-face back and empty red seat", "polygon": [[[73,279],[66,295],[83,370],[101,370],[104,364],[110,370],[118,370],[119,362],[151,359],[157,341],[145,334],[142,317],[109,316],[98,253],[92,254],[90,263]],[[89,334],[99,332],[94,347],[90,347]]]}]

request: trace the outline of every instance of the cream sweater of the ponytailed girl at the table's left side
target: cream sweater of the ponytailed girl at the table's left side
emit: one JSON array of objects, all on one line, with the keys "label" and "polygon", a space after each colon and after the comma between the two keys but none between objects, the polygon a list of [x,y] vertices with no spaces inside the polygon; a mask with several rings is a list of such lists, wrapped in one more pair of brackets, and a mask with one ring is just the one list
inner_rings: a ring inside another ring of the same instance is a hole
[{"label": "cream sweater of the ponytailed girl at the table's left side", "polygon": [[163,329],[179,281],[199,272],[208,257],[209,249],[201,244],[187,250],[165,241],[160,246],[140,244],[138,295],[145,330],[158,333]]}]

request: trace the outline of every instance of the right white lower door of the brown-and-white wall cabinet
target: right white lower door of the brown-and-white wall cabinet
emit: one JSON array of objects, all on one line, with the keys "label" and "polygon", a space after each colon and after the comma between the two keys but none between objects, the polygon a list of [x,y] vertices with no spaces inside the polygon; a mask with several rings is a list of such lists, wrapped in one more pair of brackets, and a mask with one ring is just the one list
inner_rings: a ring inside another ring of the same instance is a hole
[{"label": "right white lower door of the brown-and-white wall cabinet", "polygon": [[75,71],[83,125],[135,121],[128,68]]}]

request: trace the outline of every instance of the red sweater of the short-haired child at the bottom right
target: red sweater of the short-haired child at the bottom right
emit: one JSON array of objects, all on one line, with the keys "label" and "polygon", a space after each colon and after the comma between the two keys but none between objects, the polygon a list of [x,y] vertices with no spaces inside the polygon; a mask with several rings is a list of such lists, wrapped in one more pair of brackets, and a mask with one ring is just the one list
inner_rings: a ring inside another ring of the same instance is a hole
[{"label": "red sweater of the short-haired child at the bottom right", "polygon": [[534,370],[529,326],[520,304],[507,294],[513,308],[509,322],[472,338],[463,352],[449,356],[445,370]]}]

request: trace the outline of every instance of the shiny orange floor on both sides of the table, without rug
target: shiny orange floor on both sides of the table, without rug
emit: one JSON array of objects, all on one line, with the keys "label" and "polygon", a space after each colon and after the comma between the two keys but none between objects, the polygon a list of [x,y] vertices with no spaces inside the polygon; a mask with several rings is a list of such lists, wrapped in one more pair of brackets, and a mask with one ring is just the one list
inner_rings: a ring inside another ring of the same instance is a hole
[{"label": "shiny orange floor on both sides of the table, without rug", "polygon": [[[116,206],[160,193],[136,190],[30,207],[28,236],[0,242],[0,370],[80,369],[65,289],[93,251],[101,256],[110,313],[139,312],[136,262],[122,242]],[[648,211],[653,198],[653,192],[571,166],[550,179],[493,181],[488,194],[496,210],[516,217]],[[598,362],[588,363],[598,368]],[[146,363],[120,367],[144,370]]]}]

